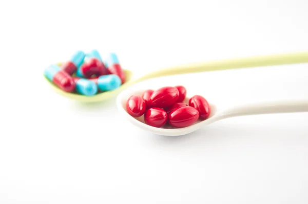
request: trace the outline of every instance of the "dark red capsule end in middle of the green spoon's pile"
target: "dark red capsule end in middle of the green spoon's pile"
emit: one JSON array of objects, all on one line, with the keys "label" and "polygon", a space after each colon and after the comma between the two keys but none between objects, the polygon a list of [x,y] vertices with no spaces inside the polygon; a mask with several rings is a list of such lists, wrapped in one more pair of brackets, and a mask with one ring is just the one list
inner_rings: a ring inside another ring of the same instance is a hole
[{"label": "dark red capsule end in middle of the green spoon's pile", "polygon": [[86,78],[90,78],[92,75],[105,75],[106,67],[104,63],[102,63],[97,58],[89,58],[81,67],[81,72]]}]

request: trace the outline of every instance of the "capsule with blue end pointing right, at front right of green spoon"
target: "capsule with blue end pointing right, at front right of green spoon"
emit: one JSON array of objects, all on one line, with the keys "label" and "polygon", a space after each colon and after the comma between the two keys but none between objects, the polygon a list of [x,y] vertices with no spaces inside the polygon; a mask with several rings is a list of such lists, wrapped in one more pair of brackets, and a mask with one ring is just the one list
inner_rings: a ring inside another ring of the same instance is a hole
[{"label": "capsule with blue end pointing right, at front right of green spoon", "polygon": [[121,86],[121,79],[118,75],[115,74],[90,78],[90,80],[98,85],[100,91],[112,91]]}]

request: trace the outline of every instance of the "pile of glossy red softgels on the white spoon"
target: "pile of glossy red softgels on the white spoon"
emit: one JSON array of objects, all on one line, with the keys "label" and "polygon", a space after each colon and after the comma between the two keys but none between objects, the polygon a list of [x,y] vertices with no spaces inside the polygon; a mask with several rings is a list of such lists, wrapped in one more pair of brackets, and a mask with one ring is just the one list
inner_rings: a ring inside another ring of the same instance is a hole
[{"label": "pile of glossy red softgels on the white spoon", "polygon": [[210,115],[210,106],[201,95],[184,102],[186,89],[183,86],[162,87],[146,90],[142,95],[132,95],[126,102],[126,111],[132,117],[144,117],[144,122],[161,128],[170,125],[175,128],[191,126]]}]

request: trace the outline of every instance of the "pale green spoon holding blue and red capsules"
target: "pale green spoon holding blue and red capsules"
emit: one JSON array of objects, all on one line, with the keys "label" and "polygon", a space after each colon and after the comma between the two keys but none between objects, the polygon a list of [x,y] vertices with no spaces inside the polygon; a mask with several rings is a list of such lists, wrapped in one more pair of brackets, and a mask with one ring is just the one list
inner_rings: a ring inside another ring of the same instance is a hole
[{"label": "pale green spoon holding blue and red capsules", "polygon": [[[188,65],[180,65],[175,67],[170,67],[158,71],[153,71],[140,78],[133,79],[133,73],[129,70],[124,70],[126,74],[126,83],[124,83],[118,89],[113,91],[107,91],[103,93],[98,93],[93,96],[85,96],[77,93],[68,93],[62,91],[60,88],[51,83],[45,76],[47,83],[51,86],[53,91],[56,93],[71,98],[74,100],[84,101],[84,102],[97,102],[109,99],[113,96],[118,95],[122,90],[128,88],[129,86],[139,83],[140,81],[168,76],[176,74],[186,74],[186,73],[196,73],[205,71],[216,71],[216,70],[228,70],[228,69],[239,69],[248,67],[262,67],[262,66],[274,66],[274,65],[286,65],[286,64],[299,64],[308,63],[308,52],[296,52],[296,53],[284,53],[275,55],[263,55],[263,56],[253,56],[253,57],[243,57],[234,59],[217,60],[211,62],[202,63],[192,63]],[[59,63],[58,65],[61,65]]]}]

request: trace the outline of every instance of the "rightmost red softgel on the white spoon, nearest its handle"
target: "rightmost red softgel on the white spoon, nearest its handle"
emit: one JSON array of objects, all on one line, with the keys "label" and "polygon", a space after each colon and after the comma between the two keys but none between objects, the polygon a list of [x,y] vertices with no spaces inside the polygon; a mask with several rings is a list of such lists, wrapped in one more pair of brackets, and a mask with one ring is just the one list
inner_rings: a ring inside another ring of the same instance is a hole
[{"label": "rightmost red softgel on the white spoon, nearest its handle", "polygon": [[200,96],[195,95],[189,99],[189,106],[194,107],[199,111],[200,119],[205,120],[210,114],[210,106],[207,103],[207,100]]}]

